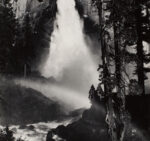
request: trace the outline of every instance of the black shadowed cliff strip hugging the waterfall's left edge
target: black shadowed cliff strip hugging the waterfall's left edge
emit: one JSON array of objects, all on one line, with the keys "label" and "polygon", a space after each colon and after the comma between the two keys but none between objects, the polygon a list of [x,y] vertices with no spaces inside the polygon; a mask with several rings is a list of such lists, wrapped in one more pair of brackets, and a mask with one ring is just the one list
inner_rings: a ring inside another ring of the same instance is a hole
[{"label": "black shadowed cliff strip hugging the waterfall's left edge", "polygon": [[[35,38],[34,46],[36,46],[36,60],[37,66],[34,66],[36,69],[39,64],[42,64],[45,61],[50,48],[50,36],[53,32],[53,25],[55,21],[55,16],[57,12],[56,1],[50,0],[49,6],[40,12],[40,18],[36,21],[35,24]],[[38,16],[38,15],[37,15]]]}]

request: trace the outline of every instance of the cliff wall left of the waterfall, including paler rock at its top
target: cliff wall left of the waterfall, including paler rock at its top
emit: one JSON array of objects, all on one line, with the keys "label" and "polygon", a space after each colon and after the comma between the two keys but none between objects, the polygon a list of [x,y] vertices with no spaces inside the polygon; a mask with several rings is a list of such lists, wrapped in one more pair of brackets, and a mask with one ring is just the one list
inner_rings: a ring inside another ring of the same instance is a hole
[{"label": "cliff wall left of the waterfall, including paler rock at its top", "polygon": [[50,37],[57,12],[56,0],[28,0],[26,12],[32,25],[32,47],[34,58],[31,63],[31,72],[39,71],[39,65],[43,64],[49,53]]}]

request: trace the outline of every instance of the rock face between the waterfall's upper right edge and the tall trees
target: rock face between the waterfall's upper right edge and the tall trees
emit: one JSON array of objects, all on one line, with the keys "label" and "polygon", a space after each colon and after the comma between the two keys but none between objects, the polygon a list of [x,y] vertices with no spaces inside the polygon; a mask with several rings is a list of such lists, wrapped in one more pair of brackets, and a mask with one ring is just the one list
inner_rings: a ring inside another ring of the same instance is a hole
[{"label": "rock face between the waterfall's upper right edge and the tall trees", "polygon": [[[84,23],[85,40],[90,47],[90,51],[99,56],[100,37],[99,37],[99,16],[98,10],[92,5],[92,0],[75,0],[76,9]],[[98,59],[100,60],[100,58]]]}]

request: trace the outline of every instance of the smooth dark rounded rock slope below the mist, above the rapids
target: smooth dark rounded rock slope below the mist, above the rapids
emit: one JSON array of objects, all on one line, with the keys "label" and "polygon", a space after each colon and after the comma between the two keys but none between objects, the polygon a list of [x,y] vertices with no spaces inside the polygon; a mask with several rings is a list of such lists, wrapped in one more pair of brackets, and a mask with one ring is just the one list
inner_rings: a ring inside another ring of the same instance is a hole
[{"label": "smooth dark rounded rock slope below the mist, above the rapids", "polygon": [[58,120],[65,114],[61,106],[40,92],[15,85],[0,83],[0,123],[29,124]]}]

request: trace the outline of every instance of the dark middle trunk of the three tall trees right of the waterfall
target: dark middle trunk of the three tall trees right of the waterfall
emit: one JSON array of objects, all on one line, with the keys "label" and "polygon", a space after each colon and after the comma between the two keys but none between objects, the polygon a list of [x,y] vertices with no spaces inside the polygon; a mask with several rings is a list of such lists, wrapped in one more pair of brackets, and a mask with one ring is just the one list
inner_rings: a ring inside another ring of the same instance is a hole
[{"label": "dark middle trunk of the three tall trees right of the waterfall", "polygon": [[116,141],[122,141],[124,139],[124,121],[122,117],[124,116],[124,87],[122,87],[122,56],[121,56],[121,46],[120,46],[120,24],[121,15],[118,13],[120,9],[119,1],[114,0],[113,6],[113,30],[114,30],[114,50],[115,50],[115,75],[116,75],[116,87],[117,87],[117,98],[120,100],[117,109],[114,109],[116,120]]}]

